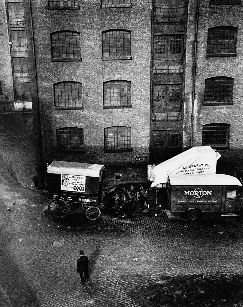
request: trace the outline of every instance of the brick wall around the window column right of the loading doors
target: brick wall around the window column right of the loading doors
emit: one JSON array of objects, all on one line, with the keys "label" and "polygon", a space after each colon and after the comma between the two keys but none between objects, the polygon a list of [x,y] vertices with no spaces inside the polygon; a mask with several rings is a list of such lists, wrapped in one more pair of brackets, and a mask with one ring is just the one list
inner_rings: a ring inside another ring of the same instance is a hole
[{"label": "brick wall around the window column right of the loading doors", "polygon": [[[184,149],[190,147],[191,108],[192,108],[192,72],[193,43],[195,39],[196,1],[189,1],[186,74],[185,74],[185,108],[184,108]],[[243,6],[219,5],[209,6],[209,1],[200,1],[197,37],[196,99],[194,105],[194,124],[192,146],[201,146],[202,125],[209,123],[225,123],[230,125],[229,150],[219,150],[221,161],[241,159],[243,153],[242,111],[242,68],[243,51]],[[208,29],[215,26],[228,25],[238,28],[237,56],[206,57]],[[203,106],[205,79],[215,76],[234,78],[233,105]]]}]

